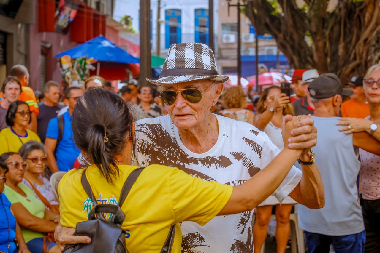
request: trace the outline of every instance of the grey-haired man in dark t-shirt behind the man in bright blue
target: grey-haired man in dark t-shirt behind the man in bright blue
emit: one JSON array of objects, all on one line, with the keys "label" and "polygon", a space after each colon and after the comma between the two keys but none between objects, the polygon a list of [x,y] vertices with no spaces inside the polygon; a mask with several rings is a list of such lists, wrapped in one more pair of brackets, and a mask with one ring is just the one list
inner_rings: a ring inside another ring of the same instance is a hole
[{"label": "grey-haired man in dark t-shirt behind the man in bright blue", "polygon": [[38,103],[40,114],[37,116],[37,134],[41,142],[45,142],[45,135],[49,121],[57,117],[59,110],[63,107],[58,104],[61,96],[60,86],[57,82],[49,81],[44,86],[44,101]]}]

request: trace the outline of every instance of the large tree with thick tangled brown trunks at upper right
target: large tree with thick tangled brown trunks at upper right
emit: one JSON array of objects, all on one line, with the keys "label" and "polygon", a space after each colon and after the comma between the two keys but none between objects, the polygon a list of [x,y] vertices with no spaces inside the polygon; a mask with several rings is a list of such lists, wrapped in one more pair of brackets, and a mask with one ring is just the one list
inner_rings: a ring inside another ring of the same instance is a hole
[{"label": "large tree with thick tangled brown trunks at upper right", "polygon": [[[245,14],[269,33],[293,68],[334,72],[342,81],[380,60],[380,0],[253,0]],[[299,4],[299,3],[298,3]]]}]

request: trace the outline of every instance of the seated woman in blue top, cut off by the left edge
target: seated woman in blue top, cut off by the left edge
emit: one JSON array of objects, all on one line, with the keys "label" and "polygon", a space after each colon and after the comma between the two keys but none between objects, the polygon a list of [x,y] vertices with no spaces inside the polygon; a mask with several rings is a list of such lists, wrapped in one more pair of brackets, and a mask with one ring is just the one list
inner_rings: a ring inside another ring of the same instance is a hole
[{"label": "seated woman in blue top, cut off by the left edge", "polygon": [[[17,225],[16,219],[11,212],[11,203],[3,193],[6,182],[5,173],[7,172],[8,167],[4,162],[0,161],[0,252],[30,253],[22,236],[20,226]],[[17,239],[19,245],[18,249],[16,248],[15,239]]]}]

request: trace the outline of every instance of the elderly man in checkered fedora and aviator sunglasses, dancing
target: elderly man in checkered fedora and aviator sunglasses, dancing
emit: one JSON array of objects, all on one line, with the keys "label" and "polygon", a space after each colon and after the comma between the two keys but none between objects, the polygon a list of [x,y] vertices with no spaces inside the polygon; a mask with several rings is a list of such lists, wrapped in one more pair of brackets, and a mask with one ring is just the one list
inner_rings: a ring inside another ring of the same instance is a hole
[{"label": "elderly man in checkered fedora and aviator sunglasses, dancing", "polygon": [[[133,165],[178,167],[206,181],[237,186],[255,176],[279,154],[269,137],[252,124],[210,113],[228,77],[218,73],[209,46],[171,45],[160,78],[147,80],[161,85],[160,97],[169,114],[135,123]],[[293,137],[285,149],[302,149],[299,159],[305,165],[302,172],[293,166],[272,195],[280,202],[290,195],[306,206],[321,208],[323,185],[310,152],[316,143],[317,130],[310,116],[299,116],[298,120],[298,128],[293,129]],[[191,219],[182,222],[182,252],[252,252],[252,214],[253,210],[218,216],[205,226]],[[59,226],[57,242],[62,246],[86,243],[89,239],[71,236],[72,233],[73,229]],[[128,239],[126,242],[128,245]]]}]

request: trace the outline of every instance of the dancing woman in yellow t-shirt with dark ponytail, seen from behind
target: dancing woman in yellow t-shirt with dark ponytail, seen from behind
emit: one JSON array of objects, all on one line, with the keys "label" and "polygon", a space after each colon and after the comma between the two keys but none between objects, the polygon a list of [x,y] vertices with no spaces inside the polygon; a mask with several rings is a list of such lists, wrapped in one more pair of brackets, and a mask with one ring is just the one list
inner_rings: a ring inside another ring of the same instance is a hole
[{"label": "dancing woman in yellow t-shirt with dark ponytail, seen from behind", "polygon": [[[285,125],[285,147],[297,123],[292,119]],[[117,204],[125,180],[136,169],[130,165],[133,149],[130,108],[116,94],[94,88],[79,97],[71,124],[75,144],[92,163],[86,176],[95,198],[98,203]],[[122,229],[126,231],[128,251],[160,252],[171,225],[175,224],[172,252],[180,252],[179,222],[204,225],[216,215],[252,210],[275,191],[301,152],[284,148],[265,170],[237,187],[203,181],[177,168],[147,166],[121,207],[126,217]],[[87,220],[92,209],[81,184],[83,170],[68,171],[60,181],[62,226],[75,228],[78,222]]]}]

